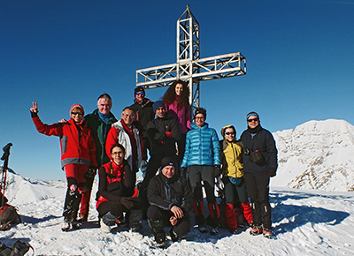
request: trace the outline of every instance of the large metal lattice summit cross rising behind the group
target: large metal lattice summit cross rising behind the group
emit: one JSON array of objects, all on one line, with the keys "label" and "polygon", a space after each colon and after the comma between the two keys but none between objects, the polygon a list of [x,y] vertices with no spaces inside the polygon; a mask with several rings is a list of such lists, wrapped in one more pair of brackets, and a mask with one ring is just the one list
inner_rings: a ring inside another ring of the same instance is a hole
[{"label": "large metal lattice summit cross rising behind the group", "polygon": [[[177,62],[136,71],[136,86],[167,87],[181,79],[189,83],[189,103],[199,107],[199,82],[246,74],[246,58],[240,52],[200,58],[199,24],[187,5],[177,20]],[[191,111],[192,112],[192,111]]]}]

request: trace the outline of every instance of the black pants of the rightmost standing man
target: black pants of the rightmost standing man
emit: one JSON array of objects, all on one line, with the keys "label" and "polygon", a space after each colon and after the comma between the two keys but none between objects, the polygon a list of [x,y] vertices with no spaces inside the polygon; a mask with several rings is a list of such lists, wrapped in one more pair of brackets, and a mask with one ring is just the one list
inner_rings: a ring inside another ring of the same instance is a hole
[{"label": "black pants of the rightmost standing man", "polygon": [[269,203],[269,176],[266,172],[245,172],[247,191],[256,226],[262,225],[267,230],[272,228],[272,208]]}]

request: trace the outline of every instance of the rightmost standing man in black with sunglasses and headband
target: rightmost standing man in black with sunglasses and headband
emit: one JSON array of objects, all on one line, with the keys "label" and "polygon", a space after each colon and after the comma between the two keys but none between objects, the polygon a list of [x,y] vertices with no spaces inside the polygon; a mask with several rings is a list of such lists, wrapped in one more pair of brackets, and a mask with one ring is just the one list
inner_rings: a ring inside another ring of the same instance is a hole
[{"label": "rightmost standing man in black with sunglasses and headband", "polygon": [[269,203],[269,180],[276,175],[278,167],[275,140],[271,132],[262,128],[259,115],[250,112],[246,116],[247,130],[242,132],[243,172],[250,196],[253,214],[251,235],[272,237],[271,206]]}]

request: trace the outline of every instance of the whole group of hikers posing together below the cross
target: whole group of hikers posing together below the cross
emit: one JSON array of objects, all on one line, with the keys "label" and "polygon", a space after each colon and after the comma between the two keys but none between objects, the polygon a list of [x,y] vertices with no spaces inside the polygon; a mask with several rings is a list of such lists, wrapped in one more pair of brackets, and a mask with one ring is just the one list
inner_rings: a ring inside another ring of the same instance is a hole
[{"label": "whole group of hikers posing together below the cross", "polygon": [[[134,104],[123,109],[120,120],[111,109],[109,94],[98,97],[93,113],[84,116],[83,107],[74,104],[71,118],[56,124],[42,123],[37,103],[30,109],[38,132],[60,138],[67,180],[63,231],[88,221],[98,169],[96,210],[104,232],[124,221],[138,231],[146,219],[158,245],[164,245],[164,227],[171,227],[173,241],[181,240],[191,229],[193,211],[202,233],[209,224],[210,233],[217,234],[220,213],[225,213],[234,234],[247,224],[252,235],[272,236],[268,193],[269,179],[276,174],[277,149],[258,113],[247,115],[248,127],[240,140],[233,125],[222,128],[219,140],[205,122],[205,109],[196,108],[191,117],[189,87],[181,80],[174,81],[157,102],[145,97],[143,87],[136,87]],[[143,180],[136,184],[139,170]],[[221,211],[214,193],[217,182],[224,186]]]}]

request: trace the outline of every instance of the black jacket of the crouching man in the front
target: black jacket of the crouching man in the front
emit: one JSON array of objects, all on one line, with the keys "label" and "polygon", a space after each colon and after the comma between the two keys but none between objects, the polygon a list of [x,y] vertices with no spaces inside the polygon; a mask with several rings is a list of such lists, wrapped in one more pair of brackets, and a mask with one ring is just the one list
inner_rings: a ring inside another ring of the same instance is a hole
[{"label": "black jacket of the crouching man in the front", "polygon": [[161,172],[151,178],[148,186],[148,200],[151,206],[170,210],[173,206],[180,207],[184,215],[189,215],[193,207],[193,195],[189,181],[178,174],[170,179]]}]

